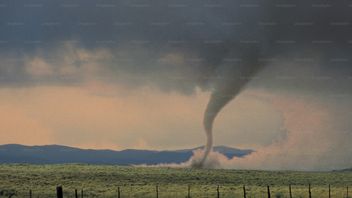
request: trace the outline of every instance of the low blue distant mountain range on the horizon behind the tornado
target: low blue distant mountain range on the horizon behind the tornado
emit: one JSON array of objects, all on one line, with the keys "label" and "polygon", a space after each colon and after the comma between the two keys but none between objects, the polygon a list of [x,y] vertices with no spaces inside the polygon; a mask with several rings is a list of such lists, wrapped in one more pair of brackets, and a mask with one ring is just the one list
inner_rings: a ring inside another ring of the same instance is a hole
[{"label": "low blue distant mountain range on the horizon behind the tornado", "polygon": [[[24,146],[19,144],[0,145],[0,163],[30,163],[30,164],[116,164],[140,165],[160,163],[181,163],[187,161],[198,148],[170,151],[127,149],[93,150],[80,149],[61,145]],[[250,149],[236,149],[226,146],[216,146],[214,150],[229,158],[243,157],[253,152]]]}]

